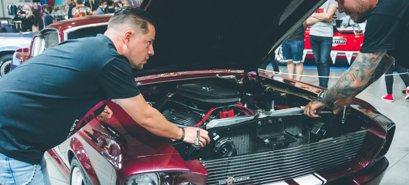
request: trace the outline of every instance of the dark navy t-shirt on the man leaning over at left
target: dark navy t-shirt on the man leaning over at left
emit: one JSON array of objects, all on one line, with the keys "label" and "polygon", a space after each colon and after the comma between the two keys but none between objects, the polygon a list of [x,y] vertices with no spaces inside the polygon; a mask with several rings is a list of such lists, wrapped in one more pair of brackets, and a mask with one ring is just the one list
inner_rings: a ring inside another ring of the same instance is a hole
[{"label": "dark navy t-shirt on the man leaning over at left", "polygon": [[0,78],[0,87],[0,153],[31,164],[110,99],[140,94],[128,58],[101,34],[44,50]]}]

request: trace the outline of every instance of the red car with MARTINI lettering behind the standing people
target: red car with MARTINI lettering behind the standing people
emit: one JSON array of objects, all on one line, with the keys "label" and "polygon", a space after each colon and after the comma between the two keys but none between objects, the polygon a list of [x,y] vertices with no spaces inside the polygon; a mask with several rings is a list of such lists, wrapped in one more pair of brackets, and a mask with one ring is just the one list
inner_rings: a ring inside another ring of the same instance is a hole
[{"label": "red car with MARTINI lettering behind the standing people", "polygon": [[[355,60],[355,57],[359,53],[362,43],[364,42],[364,25],[357,24],[349,16],[341,18],[339,21],[339,26],[334,26],[334,37],[333,37],[333,46],[331,51],[331,60],[333,64],[348,62],[348,65]],[[314,54],[312,53],[310,45],[310,27],[305,31],[305,49],[303,53],[304,58],[314,59]],[[283,53],[281,47],[275,50],[276,57],[275,60],[278,65],[287,65],[287,62],[283,62]]]}]

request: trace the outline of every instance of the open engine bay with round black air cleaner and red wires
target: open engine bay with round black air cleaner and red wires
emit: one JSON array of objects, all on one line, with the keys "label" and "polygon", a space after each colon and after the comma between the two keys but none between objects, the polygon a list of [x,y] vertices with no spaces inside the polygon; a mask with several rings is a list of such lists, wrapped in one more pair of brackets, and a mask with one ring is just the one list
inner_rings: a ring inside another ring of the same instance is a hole
[{"label": "open engine bay with round black air cleaner and red wires", "polygon": [[184,160],[273,151],[366,129],[354,114],[343,122],[326,108],[319,118],[309,118],[301,108],[307,98],[268,84],[249,87],[212,81],[156,85],[148,89],[162,93],[145,99],[178,127],[209,132],[211,142],[204,148],[169,139]]}]

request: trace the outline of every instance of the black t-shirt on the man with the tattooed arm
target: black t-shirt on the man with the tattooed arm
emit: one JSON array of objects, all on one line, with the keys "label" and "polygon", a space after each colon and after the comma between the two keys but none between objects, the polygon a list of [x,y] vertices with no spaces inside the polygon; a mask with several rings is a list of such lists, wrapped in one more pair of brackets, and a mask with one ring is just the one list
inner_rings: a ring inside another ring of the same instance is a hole
[{"label": "black t-shirt on the man with the tattooed arm", "polygon": [[368,17],[361,53],[387,51],[409,68],[409,0],[379,0]]}]

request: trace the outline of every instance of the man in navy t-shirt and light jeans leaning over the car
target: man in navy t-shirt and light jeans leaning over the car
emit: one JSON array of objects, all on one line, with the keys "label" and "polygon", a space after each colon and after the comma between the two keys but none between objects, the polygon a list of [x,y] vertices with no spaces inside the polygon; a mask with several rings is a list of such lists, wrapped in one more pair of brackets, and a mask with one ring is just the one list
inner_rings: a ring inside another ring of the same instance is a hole
[{"label": "man in navy t-shirt and light jeans leaning over the car", "polygon": [[[153,134],[195,143],[196,128],[167,121],[135,84],[131,68],[142,69],[154,54],[155,27],[143,9],[123,7],[103,35],[61,42],[0,78],[0,183],[24,184],[36,169],[30,184],[44,184],[42,166],[34,166],[44,152],[104,109],[109,119],[112,99]],[[202,147],[207,134],[201,129]]]}]

